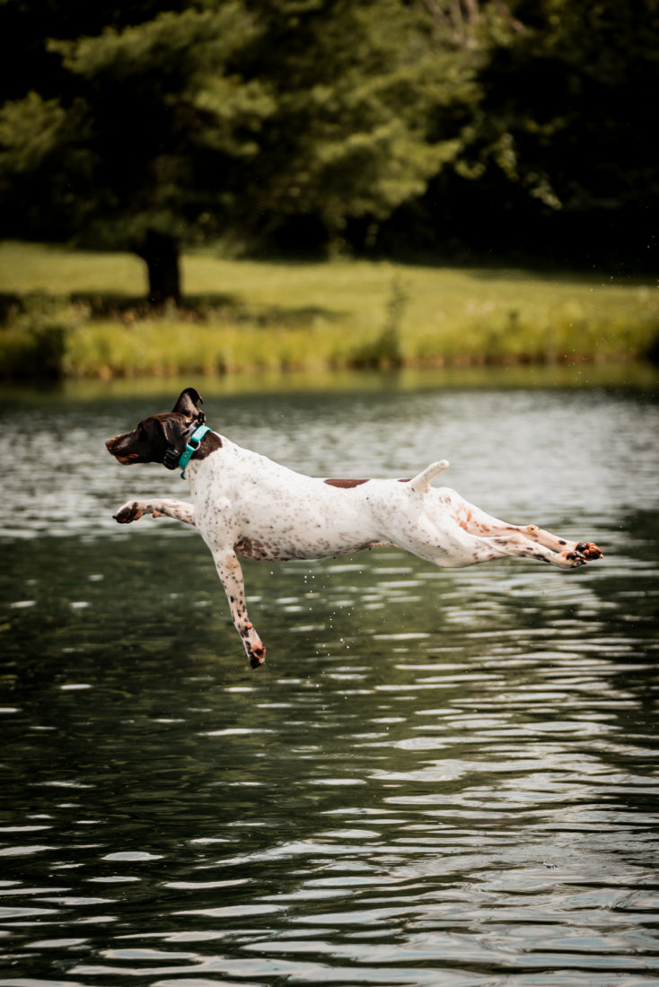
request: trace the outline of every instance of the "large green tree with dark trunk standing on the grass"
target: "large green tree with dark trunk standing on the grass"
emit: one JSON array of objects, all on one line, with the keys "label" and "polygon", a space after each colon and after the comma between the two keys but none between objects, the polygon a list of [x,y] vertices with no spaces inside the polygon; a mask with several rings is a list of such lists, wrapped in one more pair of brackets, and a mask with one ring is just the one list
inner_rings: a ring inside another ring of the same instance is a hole
[{"label": "large green tree with dark trunk standing on the grass", "polygon": [[38,85],[0,110],[5,235],[127,247],[151,302],[178,302],[181,244],[291,215],[338,237],[453,154],[429,138],[430,46],[404,0],[170,6],[116,6],[89,35],[82,6],[48,6]]}]

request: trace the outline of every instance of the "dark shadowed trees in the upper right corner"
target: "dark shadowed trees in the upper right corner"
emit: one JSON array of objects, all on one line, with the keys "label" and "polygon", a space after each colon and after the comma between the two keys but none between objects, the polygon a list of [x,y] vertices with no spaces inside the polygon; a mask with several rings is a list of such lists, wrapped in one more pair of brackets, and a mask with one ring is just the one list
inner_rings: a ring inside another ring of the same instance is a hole
[{"label": "dark shadowed trees in the upper right corner", "polygon": [[649,266],[659,213],[649,98],[659,87],[659,7],[510,6],[481,35],[478,96],[455,161],[471,189],[453,201],[470,199],[481,230],[496,231],[489,246],[508,238],[571,260]]}]

